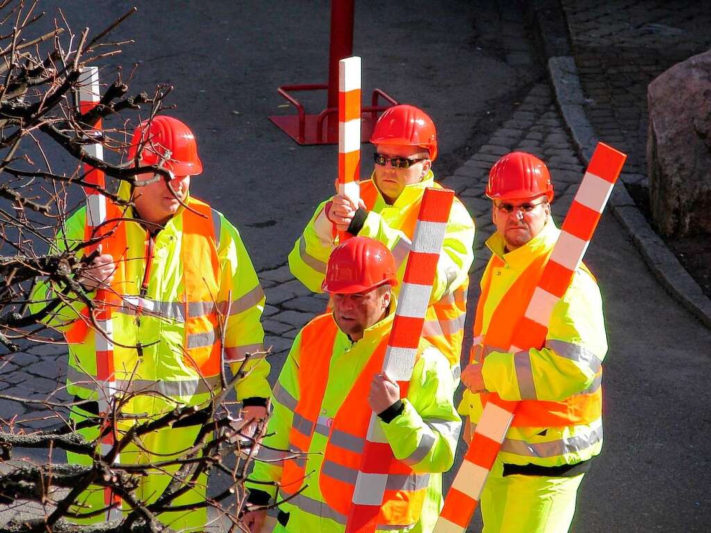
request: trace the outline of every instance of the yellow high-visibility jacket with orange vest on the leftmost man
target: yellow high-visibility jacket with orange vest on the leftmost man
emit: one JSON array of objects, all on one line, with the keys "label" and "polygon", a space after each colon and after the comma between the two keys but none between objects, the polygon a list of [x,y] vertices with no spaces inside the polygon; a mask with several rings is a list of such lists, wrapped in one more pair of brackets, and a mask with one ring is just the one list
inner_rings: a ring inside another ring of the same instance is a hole
[{"label": "yellow high-visibility jacket with orange vest on the leftmost man", "polygon": [[[128,197],[125,187],[120,194]],[[146,393],[127,403],[127,413],[208,401],[220,386],[222,334],[226,362],[262,349],[264,292],[237,229],[203,202],[187,201],[197,213],[181,206],[154,235],[137,221],[123,221],[102,245],[103,253],[120,258],[112,284],[119,296],[111,306],[117,389]],[[108,209],[112,216],[133,218],[130,210]],[[65,224],[56,248],[84,241],[85,221],[82,208]],[[54,295],[50,283],[39,284],[33,310]],[[224,328],[218,312],[228,313]],[[68,392],[97,399],[95,332],[82,320],[86,314],[85,305],[74,301],[58,308],[48,323],[68,340]],[[238,399],[269,396],[266,360],[247,367],[252,371],[237,383]]]}]

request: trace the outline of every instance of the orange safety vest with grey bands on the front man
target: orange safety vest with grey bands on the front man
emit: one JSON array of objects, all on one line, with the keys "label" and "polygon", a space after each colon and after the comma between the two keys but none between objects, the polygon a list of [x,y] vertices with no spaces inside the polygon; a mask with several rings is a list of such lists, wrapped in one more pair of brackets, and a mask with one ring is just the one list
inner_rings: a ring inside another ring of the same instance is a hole
[{"label": "orange safety vest with grey bands on the front man", "polygon": [[[368,433],[373,411],[368,397],[373,376],[383,369],[387,336],[383,338],[368,363],[355,380],[348,396],[332,421],[320,421],[321,402],[328,382],[328,369],[333,341],[338,331],[330,314],[321,315],[301,330],[301,361],[299,362],[299,401],[294,410],[294,423],[289,432],[289,448],[307,453],[315,431],[328,432],[324,462],[319,473],[321,494],[337,512],[348,515],[353,502],[355,479],[360,469],[361,451]],[[287,495],[299,490],[304,482],[306,460],[284,462],[281,487]],[[391,460],[387,470],[385,495],[375,519],[378,526],[409,527],[422,511],[428,474],[417,474],[398,460]]]}]

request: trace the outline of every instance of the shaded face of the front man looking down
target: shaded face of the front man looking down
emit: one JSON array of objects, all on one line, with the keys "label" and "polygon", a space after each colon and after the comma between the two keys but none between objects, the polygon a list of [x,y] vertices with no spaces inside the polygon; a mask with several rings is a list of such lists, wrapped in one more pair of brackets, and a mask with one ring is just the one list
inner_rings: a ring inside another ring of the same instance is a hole
[{"label": "shaded face of the front man looking down", "polygon": [[363,332],[373,324],[380,322],[390,305],[390,285],[380,285],[370,290],[355,294],[331,295],[333,302],[333,318],[341,331],[360,340]]}]

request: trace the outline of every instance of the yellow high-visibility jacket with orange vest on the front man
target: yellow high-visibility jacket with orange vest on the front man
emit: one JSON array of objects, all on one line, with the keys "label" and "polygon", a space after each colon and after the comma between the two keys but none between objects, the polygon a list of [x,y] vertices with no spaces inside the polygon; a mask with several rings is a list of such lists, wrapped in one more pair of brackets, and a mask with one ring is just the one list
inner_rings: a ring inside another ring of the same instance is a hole
[{"label": "yellow high-visibility jacket with orange vest on the front man", "polygon": [[[393,317],[390,312],[354,343],[336,327],[332,315],[321,315],[294,339],[272,396],[270,436],[264,439],[271,449],[263,447],[258,455],[275,462],[257,461],[250,476],[279,482],[279,499],[303,489],[280,505],[289,512],[289,532],[343,532],[371,414],[365,399],[370,381],[380,372]],[[441,473],[454,461],[461,425],[454,388],[447,359],[423,340],[404,411],[390,423],[380,421],[400,463],[390,471],[379,531],[434,527],[442,505]],[[308,455],[292,458],[292,453],[274,450]],[[277,495],[276,487],[247,485]],[[418,511],[419,522],[412,525]]]}]

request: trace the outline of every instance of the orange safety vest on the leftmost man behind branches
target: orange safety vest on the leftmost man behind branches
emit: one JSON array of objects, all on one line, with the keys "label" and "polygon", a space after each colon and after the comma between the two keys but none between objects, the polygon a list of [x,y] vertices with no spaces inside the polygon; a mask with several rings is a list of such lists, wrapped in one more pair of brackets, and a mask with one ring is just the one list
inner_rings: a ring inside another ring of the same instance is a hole
[{"label": "orange safety vest on the leftmost man behind branches", "polygon": [[[188,345],[188,335],[208,334],[216,331],[219,326],[218,309],[217,306],[213,306],[208,313],[191,316],[190,303],[215,301],[220,287],[220,263],[210,206],[191,197],[188,201],[188,207],[189,209],[183,209],[183,212],[179,215],[183,223],[181,243],[184,286],[181,300],[184,305],[185,315],[183,362],[198,371],[202,377],[208,378],[220,374],[220,339],[216,335],[215,342],[212,345],[191,348]],[[121,307],[123,305],[122,296],[124,294],[122,287],[126,282],[126,224],[138,223],[137,221],[118,221],[122,217],[124,217],[122,209],[107,201],[107,223],[100,228],[100,233],[107,235],[107,238],[101,241],[101,246],[102,253],[112,255],[116,265],[111,290],[105,291],[105,301],[107,302],[107,312],[109,313],[112,312],[112,307]],[[114,222],[111,222],[112,220]],[[90,237],[92,237],[92,228],[85,225],[85,238],[88,239]],[[150,263],[150,260],[151,258],[147,258],[147,263]],[[146,268],[150,268],[150,264],[147,264]],[[95,334],[90,324],[88,310],[82,310],[80,320],[76,320],[65,332],[68,344],[83,344],[87,342],[89,336]],[[116,358],[114,359],[114,368],[118,368],[115,363],[120,358],[120,352],[126,349],[130,348],[114,345],[114,358]]]}]

